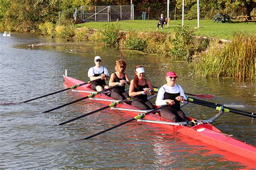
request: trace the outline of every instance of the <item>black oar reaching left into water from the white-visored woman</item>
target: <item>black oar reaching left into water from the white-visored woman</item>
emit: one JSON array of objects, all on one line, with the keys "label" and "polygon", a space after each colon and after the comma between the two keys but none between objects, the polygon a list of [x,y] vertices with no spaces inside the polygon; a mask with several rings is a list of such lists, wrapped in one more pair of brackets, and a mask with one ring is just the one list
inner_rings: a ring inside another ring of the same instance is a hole
[{"label": "black oar reaching left into water from the white-visored woman", "polygon": [[116,106],[117,106],[118,104],[120,104],[120,103],[124,103],[124,102],[130,101],[130,100],[132,100],[133,98],[136,98],[136,97],[139,97],[139,96],[141,96],[141,95],[136,95],[136,96],[133,96],[133,97],[125,98],[125,99],[122,100],[122,101],[118,101],[118,102],[111,103],[110,105],[106,105],[106,106],[103,107],[103,108],[100,108],[100,109],[91,111],[91,112],[89,112],[89,113],[87,113],[87,114],[84,114],[84,115],[75,117],[75,118],[73,118],[73,119],[70,119],[69,121],[66,121],[66,122],[63,122],[63,123],[59,123],[59,124],[57,124],[57,125],[64,125],[64,124],[66,124],[66,123],[76,121],[77,119],[83,118],[83,117],[85,117],[85,116],[95,114],[96,112],[105,110],[105,109],[107,109],[107,108],[114,108],[114,107],[116,107]]}]

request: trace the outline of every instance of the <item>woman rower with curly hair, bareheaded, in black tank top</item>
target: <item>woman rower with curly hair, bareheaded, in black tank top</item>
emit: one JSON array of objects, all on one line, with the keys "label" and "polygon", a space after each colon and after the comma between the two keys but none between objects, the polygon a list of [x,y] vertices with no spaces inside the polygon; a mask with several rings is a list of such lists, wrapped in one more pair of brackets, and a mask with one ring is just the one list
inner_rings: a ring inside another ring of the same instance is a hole
[{"label": "woman rower with curly hair, bareheaded, in black tank top", "polygon": [[120,86],[112,90],[111,97],[115,98],[116,100],[123,100],[129,97],[129,95],[125,92],[125,83],[130,82],[128,75],[125,73],[125,61],[122,59],[117,60],[114,69],[116,72],[111,74],[109,86],[116,86],[118,84],[120,84]]}]

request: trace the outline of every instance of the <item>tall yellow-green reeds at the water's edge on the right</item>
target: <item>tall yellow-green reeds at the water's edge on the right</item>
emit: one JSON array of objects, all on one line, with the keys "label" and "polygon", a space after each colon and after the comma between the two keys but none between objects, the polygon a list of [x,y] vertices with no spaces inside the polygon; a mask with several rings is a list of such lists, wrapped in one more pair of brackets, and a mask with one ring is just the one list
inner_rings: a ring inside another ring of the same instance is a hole
[{"label": "tall yellow-green reeds at the water's edge on the right", "polygon": [[208,52],[200,54],[191,63],[201,77],[255,78],[255,34],[234,34],[232,42],[224,45],[214,42]]}]

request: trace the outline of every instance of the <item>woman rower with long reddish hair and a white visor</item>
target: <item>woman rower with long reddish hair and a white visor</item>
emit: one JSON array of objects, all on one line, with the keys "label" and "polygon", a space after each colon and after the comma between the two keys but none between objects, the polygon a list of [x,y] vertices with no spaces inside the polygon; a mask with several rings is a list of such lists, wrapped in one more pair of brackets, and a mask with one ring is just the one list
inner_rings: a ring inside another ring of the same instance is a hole
[{"label": "woman rower with long reddish hair and a white visor", "polygon": [[136,66],[134,68],[134,79],[131,80],[130,84],[129,95],[132,97],[142,94],[142,96],[132,101],[132,105],[142,110],[150,110],[153,109],[153,105],[147,100],[147,92],[153,95],[153,87],[151,82],[144,77],[145,69],[143,66]]}]

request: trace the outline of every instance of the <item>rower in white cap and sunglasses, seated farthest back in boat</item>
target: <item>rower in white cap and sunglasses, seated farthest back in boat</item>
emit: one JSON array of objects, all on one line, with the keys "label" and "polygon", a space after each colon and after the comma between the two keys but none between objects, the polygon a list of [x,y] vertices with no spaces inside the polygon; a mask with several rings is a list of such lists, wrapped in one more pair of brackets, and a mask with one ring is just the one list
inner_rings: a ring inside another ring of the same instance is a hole
[{"label": "rower in white cap and sunglasses, seated farthest back in boat", "polygon": [[109,71],[106,67],[101,66],[102,58],[100,58],[100,56],[95,56],[94,62],[95,66],[88,70],[88,77],[90,77],[91,81],[99,80],[91,83],[91,89],[97,91],[108,89],[109,86],[106,85],[105,80],[108,80]]}]

